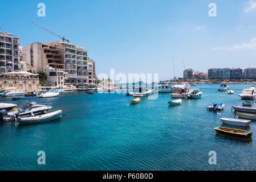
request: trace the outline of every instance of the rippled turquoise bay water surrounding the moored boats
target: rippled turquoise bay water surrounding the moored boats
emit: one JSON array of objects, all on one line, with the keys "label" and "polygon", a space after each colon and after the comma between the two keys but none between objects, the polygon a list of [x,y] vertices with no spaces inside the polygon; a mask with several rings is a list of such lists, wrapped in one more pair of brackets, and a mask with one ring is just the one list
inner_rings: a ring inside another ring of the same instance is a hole
[{"label": "rippled turquoise bay water surrounding the moored boats", "polygon": [[[69,92],[38,103],[62,109],[65,118],[30,126],[0,123],[1,170],[255,170],[256,122],[251,140],[216,136],[221,117],[234,117],[232,105],[246,84],[230,84],[234,95],[216,92],[220,85],[197,85],[200,100],[168,106],[168,94],[157,100],[124,94]],[[11,98],[0,98],[11,102]],[[210,102],[224,102],[222,115],[206,111]],[[46,165],[37,164],[38,151]],[[216,151],[217,164],[208,163]]]}]

